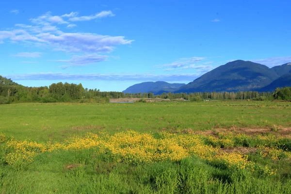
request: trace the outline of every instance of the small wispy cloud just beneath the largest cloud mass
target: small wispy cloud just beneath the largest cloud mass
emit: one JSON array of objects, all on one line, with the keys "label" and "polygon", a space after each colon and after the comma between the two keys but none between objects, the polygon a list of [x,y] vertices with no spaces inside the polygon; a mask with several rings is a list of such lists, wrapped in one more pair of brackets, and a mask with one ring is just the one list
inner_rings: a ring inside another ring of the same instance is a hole
[{"label": "small wispy cloud just beneath the largest cloud mass", "polygon": [[105,61],[108,58],[109,57],[106,55],[88,54],[88,55],[75,55],[71,59],[68,59],[68,60],[59,59],[59,60],[50,60],[50,61],[69,64],[69,65],[61,66],[63,69],[65,69],[71,66],[85,66],[88,64],[98,63],[101,61]]}]

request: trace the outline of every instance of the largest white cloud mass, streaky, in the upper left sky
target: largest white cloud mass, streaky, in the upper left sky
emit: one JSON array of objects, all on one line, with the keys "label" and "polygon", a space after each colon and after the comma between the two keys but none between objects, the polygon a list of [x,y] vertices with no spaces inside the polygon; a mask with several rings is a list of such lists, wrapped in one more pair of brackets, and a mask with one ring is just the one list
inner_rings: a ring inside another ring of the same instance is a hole
[{"label": "largest white cloud mass, streaky, in the upper left sky", "polygon": [[[31,25],[15,24],[16,29],[0,31],[0,43],[6,40],[15,43],[29,43],[35,46],[49,46],[53,50],[78,53],[112,52],[117,45],[131,44],[134,40],[124,36],[99,35],[96,33],[67,33],[59,30],[58,25],[68,24],[68,28],[76,26],[68,23],[64,18],[75,18],[77,12],[71,12],[62,16],[52,16],[47,12],[42,16],[31,18]],[[100,12],[94,17],[113,16],[111,11]],[[86,16],[78,17],[83,20]]]}]

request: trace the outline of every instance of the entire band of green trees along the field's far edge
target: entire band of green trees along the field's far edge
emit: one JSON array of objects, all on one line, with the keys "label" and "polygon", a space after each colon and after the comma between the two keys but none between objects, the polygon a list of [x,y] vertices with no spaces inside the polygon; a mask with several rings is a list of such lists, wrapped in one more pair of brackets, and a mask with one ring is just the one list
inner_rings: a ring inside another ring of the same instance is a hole
[{"label": "entire band of green trees along the field's far edge", "polygon": [[[7,84],[8,83],[8,84]],[[153,93],[124,94],[123,92],[100,92],[98,89],[83,88],[82,84],[52,83],[49,87],[25,87],[11,80],[0,81],[0,104],[12,102],[109,102],[110,98],[183,98],[191,101],[203,99],[252,99],[252,100],[291,100],[291,87],[277,88],[275,92],[197,92],[197,93]]]}]

